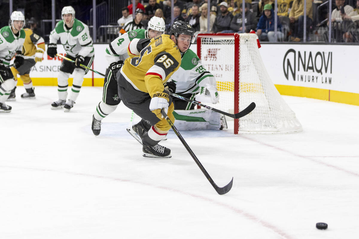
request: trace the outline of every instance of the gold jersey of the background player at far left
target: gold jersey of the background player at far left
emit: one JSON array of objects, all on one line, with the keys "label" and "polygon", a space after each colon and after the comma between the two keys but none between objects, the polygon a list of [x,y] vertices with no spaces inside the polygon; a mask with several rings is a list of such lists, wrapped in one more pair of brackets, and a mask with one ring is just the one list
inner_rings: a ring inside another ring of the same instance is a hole
[{"label": "gold jersey of the background player at far left", "polygon": [[37,50],[45,52],[44,39],[33,33],[31,29],[25,28],[25,42],[23,44],[22,53],[25,58],[33,58]]}]

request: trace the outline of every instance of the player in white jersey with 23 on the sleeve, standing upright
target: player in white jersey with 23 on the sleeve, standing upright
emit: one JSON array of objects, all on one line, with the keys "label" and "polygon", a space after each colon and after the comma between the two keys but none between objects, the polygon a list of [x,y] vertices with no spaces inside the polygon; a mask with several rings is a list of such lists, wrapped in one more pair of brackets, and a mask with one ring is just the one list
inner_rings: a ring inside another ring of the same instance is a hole
[{"label": "player in white jersey with 23 on the sleeve, standing upright", "polygon": [[[66,57],[75,61],[62,61],[59,75],[57,76],[57,91],[59,100],[51,104],[51,109],[62,109],[68,112],[74,106],[79,95],[84,75],[87,69],[80,64],[90,67],[94,57],[93,42],[89,34],[89,28],[82,21],[75,18],[75,10],[72,6],[65,6],[61,11],[62,21],[56,24],[50,34],[50,44],[47,47],[47,55],[55,57],[57,54],[57,41],[60,39],[66,51]],[[67,98],[68,79],[73,73],[74,81],[69,97]],[[66,100],[67,98],[67,100]]]}]

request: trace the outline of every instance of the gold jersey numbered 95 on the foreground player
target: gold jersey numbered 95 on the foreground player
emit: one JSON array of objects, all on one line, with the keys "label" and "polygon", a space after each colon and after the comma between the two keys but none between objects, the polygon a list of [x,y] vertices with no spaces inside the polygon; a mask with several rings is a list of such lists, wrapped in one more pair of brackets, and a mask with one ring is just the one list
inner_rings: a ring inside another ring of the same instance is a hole
[{"label": "gold jersey numbered 95 on the foreground player", "polygon": [[127,48],[121,74],[139,91],[153,97],[163,92],[163,84],[181,65],[181,53],[169,35],[152,39],[133,39]]}]

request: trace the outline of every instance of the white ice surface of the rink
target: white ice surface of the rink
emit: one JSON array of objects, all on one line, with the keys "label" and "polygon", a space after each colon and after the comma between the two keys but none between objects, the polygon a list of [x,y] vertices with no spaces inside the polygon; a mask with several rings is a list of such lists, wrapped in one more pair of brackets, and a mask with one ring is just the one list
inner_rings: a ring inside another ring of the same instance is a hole
[{"label": "white ice surface of the rink", "polygon": [[102,87],[69,113],[57,87],[23,92],[0,114],[1,239],[359,238],[358,106],[283,96],[303,132],[181,132],[218,186],[234,177],[218,195],[172,130],[172,158],[144,158],[122,103],[94,137]]}]

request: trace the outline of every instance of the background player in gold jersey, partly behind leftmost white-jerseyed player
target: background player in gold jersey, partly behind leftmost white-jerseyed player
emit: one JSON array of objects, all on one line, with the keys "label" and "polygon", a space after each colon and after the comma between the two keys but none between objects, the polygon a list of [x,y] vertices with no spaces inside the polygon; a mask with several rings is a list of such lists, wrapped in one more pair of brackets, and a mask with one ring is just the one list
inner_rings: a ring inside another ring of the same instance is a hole
[{"label": "background player in gold jersey, partly behind leftmost white-jerseyed player", "polygon": [[[21,97],[25,99],[35,98],[34,89],[32,87],[32,80],[30,78],[30,69],[36,62],[42,61],[43,53],[45,52],[45,41],[44,39],[33,33],[31,29],[25,28],[25,42],[23,44],[22,53],[24,55],[24,64],[20,67],[11,67],[15,82],[17,82],[20,75],[20,79],[24,82],[26,93],[22,94]],[[11,91],[8,100],[15,100],[15,88]]]}]

